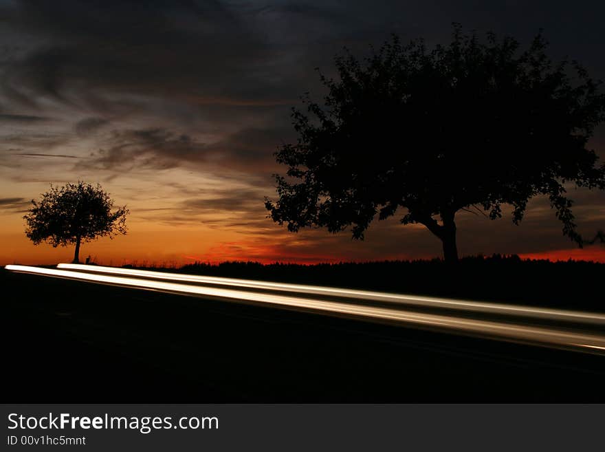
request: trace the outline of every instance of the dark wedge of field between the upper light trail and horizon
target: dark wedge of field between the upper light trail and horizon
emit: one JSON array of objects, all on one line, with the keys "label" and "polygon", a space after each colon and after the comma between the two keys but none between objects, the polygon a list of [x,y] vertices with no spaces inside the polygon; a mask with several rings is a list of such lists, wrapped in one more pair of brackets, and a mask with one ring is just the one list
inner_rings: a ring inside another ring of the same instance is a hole
[{"label": "dark wedge of field between the upper light trail and horizon", "polygon": [[215,266],[196,263],[173,271],[605,311],[605,264],[584,261],[521,261],[516,256],[494,255],[465,257],[456,266],[438,259],[314,266],[226,262]]}]

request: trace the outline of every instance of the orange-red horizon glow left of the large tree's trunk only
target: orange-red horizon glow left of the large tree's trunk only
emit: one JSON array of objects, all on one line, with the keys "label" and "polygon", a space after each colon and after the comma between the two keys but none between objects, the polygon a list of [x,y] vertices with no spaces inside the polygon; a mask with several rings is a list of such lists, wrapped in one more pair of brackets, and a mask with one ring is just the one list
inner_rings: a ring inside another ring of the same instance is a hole
[{"label": "orange-red horizon glow left of the large tree's trunk only", "polygon": [[[136,231],[126,237],[110,240],[102,238],[83,244],[80,261],[91,256],[91,261],[100,265],[123,266],[183,266],[187,263],[218,264],[226,261],[254,261],[268,263],[338,263],[342,261],[369,261],[406,259],[390,256],[370,259],[335,249],[331,254],[322,254],[307,249],[307,244],[283,248],[280,237],[267,238],[266,244],[243,237],[239,241],[225,241],[225,236],[200,234],[197,230]],[[231,238],[231,237],[229,237]],[[24,234],[0,234],[0,265],[54,265],[70,262],[74,257],[74,246],[53,248],[48,244],[34,246]]]}]

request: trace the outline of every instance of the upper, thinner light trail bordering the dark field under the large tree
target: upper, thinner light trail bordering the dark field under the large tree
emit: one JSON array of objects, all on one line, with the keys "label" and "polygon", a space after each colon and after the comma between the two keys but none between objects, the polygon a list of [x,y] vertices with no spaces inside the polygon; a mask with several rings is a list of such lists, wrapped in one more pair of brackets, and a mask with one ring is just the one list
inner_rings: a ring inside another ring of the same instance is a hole
[{"label": "upper, thinner light trail bordering the dark field under the large tree", "polygon": [[547,319],[551,321],[577,321],[581,323],[593,323],[605,326],[605,315],[594,312],[536,308],[533,306],[487,303],[483,301],[454,300],[439,297],[421,297],[417,295],[372,292],[369,290],[351,290],[324,286],[307,286],[302,284],[273,283],[268,281],[254,281],[252,279],[206,277],[197,275],[183,275],[179,273],[154,272],[150,270],[133,270],[130,268],[87,266],[78,263],[59,263],[57,267],[67,270],[84,270],[87,272],[107,273],[111,275],[127,275],[152,279],[164,279],[169,281],[204,283],[217,286],[245,287],[261,290],[292,292],[298,294],[322,295],[327,297],[381,301],[384,303],[397,303],[400,305],[415,305],[423,308],[445,308],[463,310],[466,312],[505,314],[512,316],[533,317],[536,319]]}]

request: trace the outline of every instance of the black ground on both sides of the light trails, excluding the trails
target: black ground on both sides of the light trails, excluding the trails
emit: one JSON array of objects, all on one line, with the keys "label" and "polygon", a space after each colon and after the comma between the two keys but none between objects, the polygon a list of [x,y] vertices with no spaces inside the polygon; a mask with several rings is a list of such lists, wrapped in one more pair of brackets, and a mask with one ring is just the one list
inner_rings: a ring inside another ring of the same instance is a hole
[{"label": "black ground on both sides of the light trails, excluding the trails", "polygon": [[[605,266],[182,271],[603,311]],[[605,357],[0,272],[4,402],[603,402]],[[483,296],[482,296],[483,294]]]}]

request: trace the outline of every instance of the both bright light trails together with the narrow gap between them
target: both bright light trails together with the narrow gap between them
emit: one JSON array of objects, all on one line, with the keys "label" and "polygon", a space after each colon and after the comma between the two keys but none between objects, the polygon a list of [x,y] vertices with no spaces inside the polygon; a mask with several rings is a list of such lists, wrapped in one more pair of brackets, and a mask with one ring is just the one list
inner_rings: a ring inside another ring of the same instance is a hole
[{"label": "both bright light trails together with the narrow gap between them", "polygon": [[58,269],[17,265],[6,268],[33,275],[252,302],[317,314],[384,321],[404,327],[423,327],[452,334],[605,354],[605,315],[595,312],[69,263],[59,264]]}]

